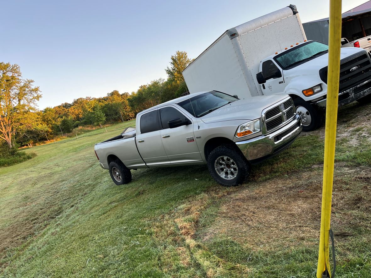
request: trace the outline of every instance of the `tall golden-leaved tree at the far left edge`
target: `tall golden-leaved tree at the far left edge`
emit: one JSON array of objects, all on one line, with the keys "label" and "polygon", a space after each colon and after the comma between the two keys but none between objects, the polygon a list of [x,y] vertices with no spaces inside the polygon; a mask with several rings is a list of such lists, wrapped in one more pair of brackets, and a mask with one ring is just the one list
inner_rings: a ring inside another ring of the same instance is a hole
[{"label": "tall golden-leaved tree at the far left edge", "polygon": [[21,124],[20,113],[36,110],[40,99],[39,87],[33,87],[33,80],[22,79],[17,64],[0,62],[0,138],[12,148],[12,136]]}]

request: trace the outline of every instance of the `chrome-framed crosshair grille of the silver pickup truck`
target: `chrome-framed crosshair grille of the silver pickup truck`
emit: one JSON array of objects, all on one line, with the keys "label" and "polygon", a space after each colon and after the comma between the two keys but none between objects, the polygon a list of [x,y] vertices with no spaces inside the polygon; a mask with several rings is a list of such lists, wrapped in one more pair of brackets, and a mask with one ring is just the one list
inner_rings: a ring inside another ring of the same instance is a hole
[{"label": "chrome-framed crosshair grille of the silver pickup truck", "polygon": [[292,99],[287,99],[278,105],[263,111],[263,134],[272,132],[285,125],[295,115]]}]

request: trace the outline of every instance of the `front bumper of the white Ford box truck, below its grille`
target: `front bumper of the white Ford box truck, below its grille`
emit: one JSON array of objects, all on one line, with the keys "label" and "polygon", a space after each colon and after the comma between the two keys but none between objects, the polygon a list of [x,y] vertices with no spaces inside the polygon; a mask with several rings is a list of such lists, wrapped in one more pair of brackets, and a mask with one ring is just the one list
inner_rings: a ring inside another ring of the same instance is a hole
[{"label": "front bumper of the white Ford box truck, below its grille", "polygon": [[[339,93],[339,106],[347,105],[351,102],[354,102],[361,97],[367,96],[371,93],[371,79],[365,80],[358,85],[351,87],[348,90]],[[326,106],[326,96],[324,99],[318,100],[313,104],[321,107]]]}]

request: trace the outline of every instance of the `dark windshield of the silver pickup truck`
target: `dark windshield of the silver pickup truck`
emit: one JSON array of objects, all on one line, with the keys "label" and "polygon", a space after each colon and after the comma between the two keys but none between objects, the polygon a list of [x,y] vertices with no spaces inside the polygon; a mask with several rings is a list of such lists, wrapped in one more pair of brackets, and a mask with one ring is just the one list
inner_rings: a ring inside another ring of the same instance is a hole
[{"label": "dark windshield of the silver pickup truck", "polygon": [[179,102],[178,105],[199,118],[235,100],[238,99],[225,93],[211,91],[190,97]]}]

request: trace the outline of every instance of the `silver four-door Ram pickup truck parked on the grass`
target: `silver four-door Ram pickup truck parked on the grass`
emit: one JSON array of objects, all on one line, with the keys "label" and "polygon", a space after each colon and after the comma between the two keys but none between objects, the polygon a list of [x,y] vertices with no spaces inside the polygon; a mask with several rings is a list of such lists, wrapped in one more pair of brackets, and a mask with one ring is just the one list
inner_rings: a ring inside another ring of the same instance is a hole
[{"label": "silver four-door Ram pickup truck parked on the grass", "polygon": [[301,130],[287,95],[239,99],[201,92],[138,113],[136,129],[96,144],[95,154],[116,185],[131,181],[130,169],[207,164],[215,181],[232,186]]}]

